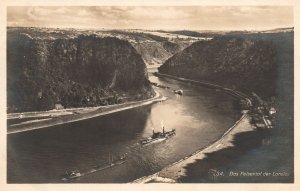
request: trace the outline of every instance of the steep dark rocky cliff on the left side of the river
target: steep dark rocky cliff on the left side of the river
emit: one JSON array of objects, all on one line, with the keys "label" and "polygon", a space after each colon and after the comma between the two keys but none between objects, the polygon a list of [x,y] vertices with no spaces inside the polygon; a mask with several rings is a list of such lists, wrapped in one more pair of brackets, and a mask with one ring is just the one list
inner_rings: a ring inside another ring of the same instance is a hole
[{"label": "steep dark rocky cliff on the left side of the river", "polygon": [[96,106],[149,98],[141,56],[127,42],[96,35],[7,34],[9,112]]}]

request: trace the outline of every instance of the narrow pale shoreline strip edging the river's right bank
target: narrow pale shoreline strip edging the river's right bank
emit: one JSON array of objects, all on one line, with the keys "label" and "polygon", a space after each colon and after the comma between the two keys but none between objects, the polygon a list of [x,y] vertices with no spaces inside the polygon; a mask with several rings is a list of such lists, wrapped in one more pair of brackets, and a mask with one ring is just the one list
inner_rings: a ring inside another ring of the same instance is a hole
[{"label": "narrow pale shoreline strip edging the river's right bank", "polygon": [[[168,74],[161,74],[159,72],[154,73],[154,75],[167,77],[167,78],[171,78],[183,82],[194,83],[209,88],[220,89],[225,93],[228,93],[234,97],[245,99],[247,101],[249,100],[248,96],[243,94],[242,92],[238,92],[229,88],[224,88],[222,86],[210,82],[201,82],[201,81],[196,81],[191,79],[185,79],[185,78],[176,77]],[[241,125],[243,123],[246,123],[246,125],[244,126]],[[176,183],[178,182],[178,179],[180,177],[185,175],[184,167],[186,167],[191,163],[194,163],[196,160],[201,160],[205,158],[205,153],[212,153],[217,150],[230,147],[232,145],[231,140],[233,139],[234,135],[245,131],[253,131],[253,128],[251,128],[249,122],[248,112],[244,113],[241,116],[241,118],[234,123],[233,126],[231,126],[221,137],[213,141],[211,144],[195,151],[194,153],[182,158],[179,161],[176,161],[164,167],[162,170],[160,170],[157,173],[148,176],[143,176],[130,183]]]}]

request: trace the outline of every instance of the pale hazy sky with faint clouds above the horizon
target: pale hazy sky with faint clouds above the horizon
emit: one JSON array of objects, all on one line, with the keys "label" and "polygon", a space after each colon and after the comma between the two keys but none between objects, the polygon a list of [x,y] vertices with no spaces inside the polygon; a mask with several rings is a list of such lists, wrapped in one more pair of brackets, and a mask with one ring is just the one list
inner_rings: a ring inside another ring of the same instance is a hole
[{"label": "pale hazy sky with faint clouds above the horizon", "polygon": [[292,27],[291,6],[8,7],[8,26],[264,30]]}]

